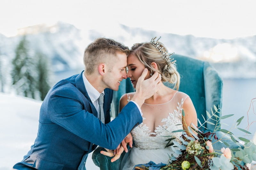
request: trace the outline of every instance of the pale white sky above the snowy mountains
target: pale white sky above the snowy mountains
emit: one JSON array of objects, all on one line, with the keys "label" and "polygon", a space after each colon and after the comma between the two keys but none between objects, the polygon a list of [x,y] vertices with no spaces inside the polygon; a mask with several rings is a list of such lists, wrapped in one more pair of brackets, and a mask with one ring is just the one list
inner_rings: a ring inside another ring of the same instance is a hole
[{"label": "pale white sky above the snowy mountains", "polygon": [[254,0],[1,0],[0,33],[63,21],[81,30],[116,24],[163,33],[236,38],[256,35]]}]

